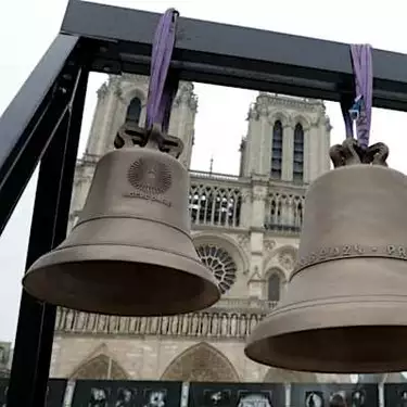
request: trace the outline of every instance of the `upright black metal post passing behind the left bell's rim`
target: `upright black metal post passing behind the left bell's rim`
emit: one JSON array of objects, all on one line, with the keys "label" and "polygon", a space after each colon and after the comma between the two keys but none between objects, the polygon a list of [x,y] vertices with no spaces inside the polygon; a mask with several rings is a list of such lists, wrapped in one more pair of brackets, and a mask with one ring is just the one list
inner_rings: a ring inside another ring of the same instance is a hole
[{"label": "upright black metal post passing behind the left bell's rim", "polygon": [[[40,163],[27,268],[66,236],[89,72],[79,67],[77,75],[71,109]],[[44,406],[55,315],[55,306],[39,303],[23,291],[8,407]]]}]

